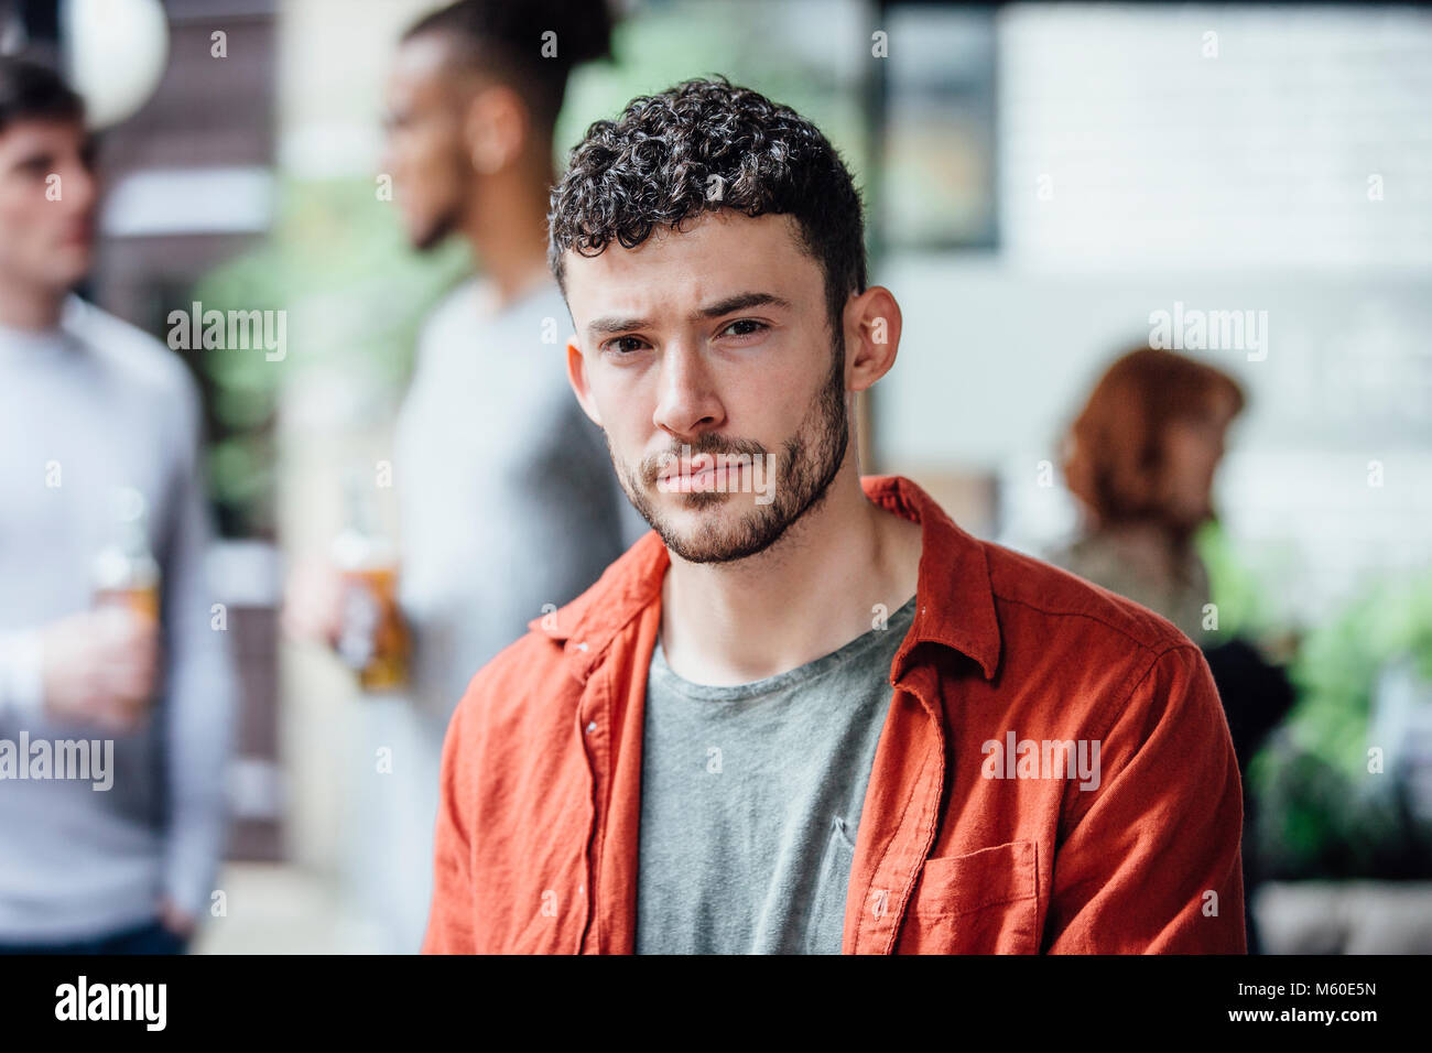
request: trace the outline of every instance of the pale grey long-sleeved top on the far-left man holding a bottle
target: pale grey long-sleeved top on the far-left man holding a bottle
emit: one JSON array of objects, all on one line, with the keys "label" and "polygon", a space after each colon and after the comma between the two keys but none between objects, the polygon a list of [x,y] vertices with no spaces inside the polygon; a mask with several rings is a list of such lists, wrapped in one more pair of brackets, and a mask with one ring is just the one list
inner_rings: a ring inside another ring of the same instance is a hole
[{"label": "pale grey long-sleeved top on the far-left man holding a bottle", "polygon": [[115,738],[113,787],[0,781],[0,941],[203,915],[225,841],[235,712],[203,576],[199,393],[158,341],[77,298],[52,332],[0,328],[0,739],[102,739],[43,712],[37,632],[92,606],[113,487],[146,499],[163,574],[160,698]]}]

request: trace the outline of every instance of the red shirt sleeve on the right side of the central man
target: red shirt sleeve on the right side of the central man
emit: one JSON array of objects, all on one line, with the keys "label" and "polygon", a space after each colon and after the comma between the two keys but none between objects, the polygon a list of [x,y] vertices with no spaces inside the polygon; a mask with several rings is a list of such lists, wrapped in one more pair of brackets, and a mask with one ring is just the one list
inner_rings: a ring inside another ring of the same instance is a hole
[{"label": "red shirt sleeve on the right side of the central man", "polygon": [[1207,662],[1160,655],[1100,742],[1057,848],[1045,950],[1246,954],[1243,789]]}]

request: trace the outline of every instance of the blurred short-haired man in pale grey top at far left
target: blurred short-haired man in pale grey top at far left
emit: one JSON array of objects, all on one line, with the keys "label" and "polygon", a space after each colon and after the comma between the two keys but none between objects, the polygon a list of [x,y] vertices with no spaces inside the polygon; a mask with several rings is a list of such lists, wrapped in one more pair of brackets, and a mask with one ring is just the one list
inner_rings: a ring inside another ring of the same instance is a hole
[{"label": "blurred short-haired man in pale grey top at far left", "polygon": [[107,789],[0,764],[0,950],[178,953],[225,842],[233,670],[203,579],[198,388],[70,295],[93,152],[80,97],[0,56],[0,742],[113,741]]}]

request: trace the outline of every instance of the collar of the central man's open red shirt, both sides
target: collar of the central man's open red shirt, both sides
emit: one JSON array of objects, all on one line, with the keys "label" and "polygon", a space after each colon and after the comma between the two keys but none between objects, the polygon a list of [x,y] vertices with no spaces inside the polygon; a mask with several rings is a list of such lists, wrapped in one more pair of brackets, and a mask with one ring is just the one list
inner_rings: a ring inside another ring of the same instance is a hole
[{"label": "collar of the central man's open red shirt, both sides", "polygon": [[[921,524],[915,620],[895,656],[894,679],[904,675],[921,643],[965,655],[992,679],[1000,663],[1000,623],[984,546],[902,476],[863,476],[861,487],[881,507]],[[586,681],[617,633],[660,602],[670,562],[660,536],[650,530],[587,592],[533,619],[528,628],[563,643],[573,675]]]}]

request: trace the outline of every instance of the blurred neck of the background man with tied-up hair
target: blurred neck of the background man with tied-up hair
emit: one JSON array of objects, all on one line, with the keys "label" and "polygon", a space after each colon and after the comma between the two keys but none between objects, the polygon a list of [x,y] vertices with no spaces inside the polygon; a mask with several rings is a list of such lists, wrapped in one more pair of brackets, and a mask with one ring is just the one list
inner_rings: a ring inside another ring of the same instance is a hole
[{"label": "blurred neck of the background man with tied-up hair", "polygon": [[540,178],[494,176],[477,188],[464,235],[491,282],[501,311],[551,281],[547,266],[547,193]]}]

